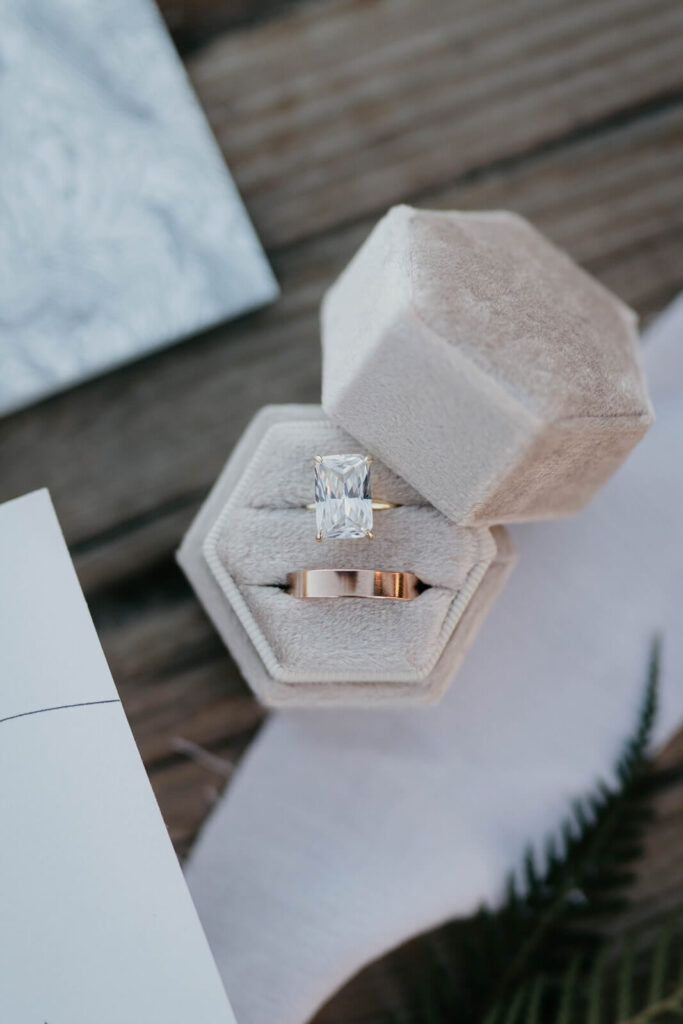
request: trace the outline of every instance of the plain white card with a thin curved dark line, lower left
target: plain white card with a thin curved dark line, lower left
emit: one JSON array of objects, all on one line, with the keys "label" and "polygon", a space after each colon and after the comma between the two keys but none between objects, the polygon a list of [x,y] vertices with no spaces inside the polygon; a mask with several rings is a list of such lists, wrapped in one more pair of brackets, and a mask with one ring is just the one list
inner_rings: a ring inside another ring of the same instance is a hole
[{"label": "plain white card with a thin curved dark line, lower left", "polygon": [[0,507],[0,1021],[234,1024],[47,492]]}]

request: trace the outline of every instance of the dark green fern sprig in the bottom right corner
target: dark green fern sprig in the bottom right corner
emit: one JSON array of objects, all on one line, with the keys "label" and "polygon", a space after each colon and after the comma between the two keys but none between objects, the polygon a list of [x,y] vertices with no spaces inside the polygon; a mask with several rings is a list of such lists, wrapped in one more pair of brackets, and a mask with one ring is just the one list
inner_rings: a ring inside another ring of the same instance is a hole
[{"label": "dark green fern sprig in the bottom right corner", "polygon": [[647,749],[656,713],[652,644],[635,731],[615,766],[577,802],[542,856],[529,848],[502,908],[481,908],[420,940],[422,1024],[659,1024],[683,1019],[680,932],[607,938],[652,816]]}]

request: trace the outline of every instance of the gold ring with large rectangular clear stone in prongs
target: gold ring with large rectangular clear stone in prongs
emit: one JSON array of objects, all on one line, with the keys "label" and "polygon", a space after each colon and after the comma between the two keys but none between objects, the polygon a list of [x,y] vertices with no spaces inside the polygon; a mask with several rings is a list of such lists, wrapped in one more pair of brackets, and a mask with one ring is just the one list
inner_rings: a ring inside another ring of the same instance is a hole
[{"label": "gold ring with large rectangular clear stone in prongs", "polygon": [[346,541],[367,537],[372,540],[373,512],[396,508],[393,502],[373,501],[370,488],[371,455],[316,455],[315,501],[306,505],[315,510],[315,537]]}]

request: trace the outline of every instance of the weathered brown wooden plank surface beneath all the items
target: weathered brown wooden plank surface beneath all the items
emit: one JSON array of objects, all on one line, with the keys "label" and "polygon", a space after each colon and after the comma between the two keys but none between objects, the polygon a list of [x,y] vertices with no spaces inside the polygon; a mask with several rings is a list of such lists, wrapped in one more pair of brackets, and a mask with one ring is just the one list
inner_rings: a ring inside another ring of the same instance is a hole
[{"label": "weathered brown wooden plank surface beneath all the items", "polygon": [[[262,712],[173,551],[253,413],[317,399],[324,289],[392,203],[501,206],[652,316],[683,288],[683,4],[161,6],[283,297],[0,422],[0,498],[50,487],[183,855]],[[641,914],[683,890],[683,737],[660,767]],[[374,966],[321,1024],[373,1020],[408,968]]]}]

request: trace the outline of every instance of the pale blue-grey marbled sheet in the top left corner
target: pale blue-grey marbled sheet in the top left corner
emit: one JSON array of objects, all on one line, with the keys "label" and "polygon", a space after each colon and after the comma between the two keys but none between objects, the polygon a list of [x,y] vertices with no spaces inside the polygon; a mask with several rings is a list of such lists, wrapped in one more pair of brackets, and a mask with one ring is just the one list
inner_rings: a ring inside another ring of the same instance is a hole
[{"label": "pale blue-grey marbled sheet in the top left corner", "polygon": [[152,0],[0,0],[0,413],[275,294]]}]

